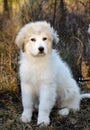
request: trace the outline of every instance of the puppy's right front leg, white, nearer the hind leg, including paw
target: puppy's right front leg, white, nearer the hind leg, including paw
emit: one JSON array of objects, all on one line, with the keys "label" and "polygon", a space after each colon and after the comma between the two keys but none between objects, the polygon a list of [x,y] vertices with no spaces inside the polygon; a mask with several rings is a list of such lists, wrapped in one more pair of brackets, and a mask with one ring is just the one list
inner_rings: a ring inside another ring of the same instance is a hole
[{"label": "puppy's right front leg, white, nearer the hind leg, including paw", "polygon": [[39,97],[39,114],[37,124],[48,125],[50,123],[49,115],[56,101],[56,86],[43,85]]}]

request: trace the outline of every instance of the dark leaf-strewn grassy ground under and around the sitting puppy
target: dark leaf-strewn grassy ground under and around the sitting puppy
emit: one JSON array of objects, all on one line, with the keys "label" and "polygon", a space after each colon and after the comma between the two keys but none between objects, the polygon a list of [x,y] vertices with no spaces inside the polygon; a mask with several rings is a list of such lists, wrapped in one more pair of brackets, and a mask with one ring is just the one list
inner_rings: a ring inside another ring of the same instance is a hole
[{"label": "dark leaf-strewn grassy ground under and around the sitting puppy", "polygon": [[[90,92],[90,88],[84,88]],[[31,123],[20,121],[22,104],[20,95],[10,92],[0,92],[0,130],[90,130],[90,99],[81,101],[81,109],[71,112],[67,117],[57,115],[57,108],[51,112],[51,123],[48,127],[36,125],[37,111],[34,111]]]}]

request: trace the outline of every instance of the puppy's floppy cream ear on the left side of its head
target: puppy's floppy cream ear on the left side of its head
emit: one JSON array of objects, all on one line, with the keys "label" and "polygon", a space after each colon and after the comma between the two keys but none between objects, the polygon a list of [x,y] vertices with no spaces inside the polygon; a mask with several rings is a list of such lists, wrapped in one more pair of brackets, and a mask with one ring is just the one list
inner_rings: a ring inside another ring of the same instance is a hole
[{"label": "puppy's floppy cream ear on the left side of its head", "polygon": [[18,32],[17,36],[16,36],[16,39],[15,39],[15,43],[23,51],[24,51],[24,40],[25,40],[25,37],[26,37],[27,28],[28,28],[27,25],[25,25],[23,28],[21,28],[20,31]]}]

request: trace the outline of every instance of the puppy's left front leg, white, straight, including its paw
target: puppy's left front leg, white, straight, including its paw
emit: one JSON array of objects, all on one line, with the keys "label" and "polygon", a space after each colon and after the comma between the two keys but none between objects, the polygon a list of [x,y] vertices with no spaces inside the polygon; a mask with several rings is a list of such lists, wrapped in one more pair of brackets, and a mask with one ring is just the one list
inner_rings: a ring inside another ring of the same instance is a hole
[{"label": "puppy's left front leg, white, straight, including its paw", "polygon": [[23,113],[21,116],[21,120],[24,123],[30,122],[33,111],[33,96],[32,89],[27,84],[21,84],[22,91],[22,104],[23,104]]}]

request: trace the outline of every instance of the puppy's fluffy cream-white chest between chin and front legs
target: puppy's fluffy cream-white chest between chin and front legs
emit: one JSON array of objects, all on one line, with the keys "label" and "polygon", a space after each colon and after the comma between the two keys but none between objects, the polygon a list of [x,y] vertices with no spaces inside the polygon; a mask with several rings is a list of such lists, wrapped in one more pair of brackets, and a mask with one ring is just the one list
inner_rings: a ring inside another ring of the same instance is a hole
[{"label": "puppy's fluffy cream-white chest between chin and front legs", "polygon": [[20,66],[22,80],[32,85],[53,80],[52,67],[49,63],[24,63]]}]

